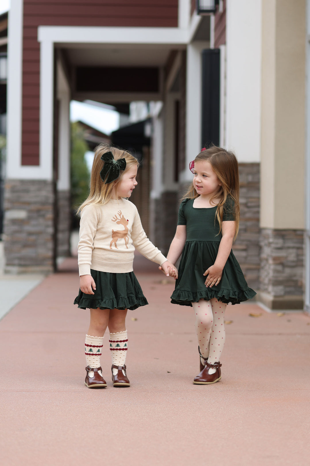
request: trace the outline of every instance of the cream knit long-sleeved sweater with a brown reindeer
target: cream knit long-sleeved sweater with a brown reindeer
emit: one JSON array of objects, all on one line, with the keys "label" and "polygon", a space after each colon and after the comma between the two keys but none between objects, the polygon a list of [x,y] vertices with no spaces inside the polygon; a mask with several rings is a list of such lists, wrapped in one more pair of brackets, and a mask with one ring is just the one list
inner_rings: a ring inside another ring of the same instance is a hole
[{"label": "cream knit long-sleeved sweater with a brown reindeer", "polygon": [[79,227],[79,274],[132,272],[133,252],[163,264],[167,259],[146,237],[137,207],[126,199],[111,199],[104,205],[88,205],[81,212]]}]

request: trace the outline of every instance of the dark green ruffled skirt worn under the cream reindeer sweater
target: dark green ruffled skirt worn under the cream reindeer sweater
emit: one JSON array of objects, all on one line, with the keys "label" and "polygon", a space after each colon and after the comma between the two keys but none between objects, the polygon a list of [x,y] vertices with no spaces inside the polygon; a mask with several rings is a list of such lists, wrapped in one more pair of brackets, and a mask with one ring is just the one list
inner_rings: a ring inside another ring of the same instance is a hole
[{"label": "dark green ruffled skirt worn under the cream reindeer sweater", "polygon": [[130,309],[134,310],[148,304],[135,274],[110,274],[91,269],[96,283],[94,295],[86,295],[79,290],[74,304],[81,309]]}]

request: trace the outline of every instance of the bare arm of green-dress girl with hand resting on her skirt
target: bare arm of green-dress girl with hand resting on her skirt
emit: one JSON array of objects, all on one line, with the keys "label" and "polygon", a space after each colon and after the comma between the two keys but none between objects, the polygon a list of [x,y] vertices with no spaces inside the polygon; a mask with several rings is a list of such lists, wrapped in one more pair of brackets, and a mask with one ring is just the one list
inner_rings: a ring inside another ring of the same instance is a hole
[{"label": "bare arm of green-dress girl with hand resting on her skirt", "polygon": [[222,222],[222,239],[219,243],[217,258],[214,264],[204,272],[204,275],[207,275],[206,281],[204,282],[206,288],[212,288],[213,285],[218,285],[220,282],[226,260],[229,254],[231,254],[235,232],[236,223],[234,221]]}]

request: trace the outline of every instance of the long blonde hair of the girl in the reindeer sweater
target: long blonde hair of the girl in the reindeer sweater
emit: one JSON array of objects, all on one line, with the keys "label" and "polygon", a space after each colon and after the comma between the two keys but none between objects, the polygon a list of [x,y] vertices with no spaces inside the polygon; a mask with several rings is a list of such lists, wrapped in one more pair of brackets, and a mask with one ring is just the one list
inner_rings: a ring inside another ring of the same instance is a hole
[{"label": "long blonde hair of the girl in the reindeer sweater", "polygon": [[[126,168],[124,171],[121,171],[119,174],[119,178],[112,183],[105,184],[101,177],[100,171],[102,170],[103,165],[105,162],[101,160],[101,156],[106,152],[111,151],[114,157],[114,160],[119,160],[120,158],[125,158],[126,160]],[[90,181],[90,192],[88,198],[79,206],[77,209],[77,213],[81,212],[83,207],[88,206],[89,204],[106,204],[112,199],[113,195],[113,188],[115,188],[115,192],[117,190],[117,186],[122,179],[122,176],[126,171],[128,171],[133,165],[137,165],[139,167],[139,161],[137,158],[133,157],[130,152],[124,151],[123,149],[119,149],[117,147],[113,147],[110,144],[99,144],[95,149],[95,156],[92,162],[92,173],[91,173],[91,181]]]}]

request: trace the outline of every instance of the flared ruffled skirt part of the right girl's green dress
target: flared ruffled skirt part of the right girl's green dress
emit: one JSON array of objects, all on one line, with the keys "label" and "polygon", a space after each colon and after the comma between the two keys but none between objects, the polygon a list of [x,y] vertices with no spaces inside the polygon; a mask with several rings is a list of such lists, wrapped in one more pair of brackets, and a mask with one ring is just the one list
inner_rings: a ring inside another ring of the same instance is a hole
[{"label": "flared ruffled skirt part of the right girl's green dress", "polygon": [[248,287],[237,259],[231,251],[221,281],[212,288],[205,287],[204,272],[218,255],[218,241],[186,241],[178,270],[178,280],[171,295],[172,304],[191,306],[199,299],[217,298],[224,303],[238,304],[254,298],[256,292]]}]

